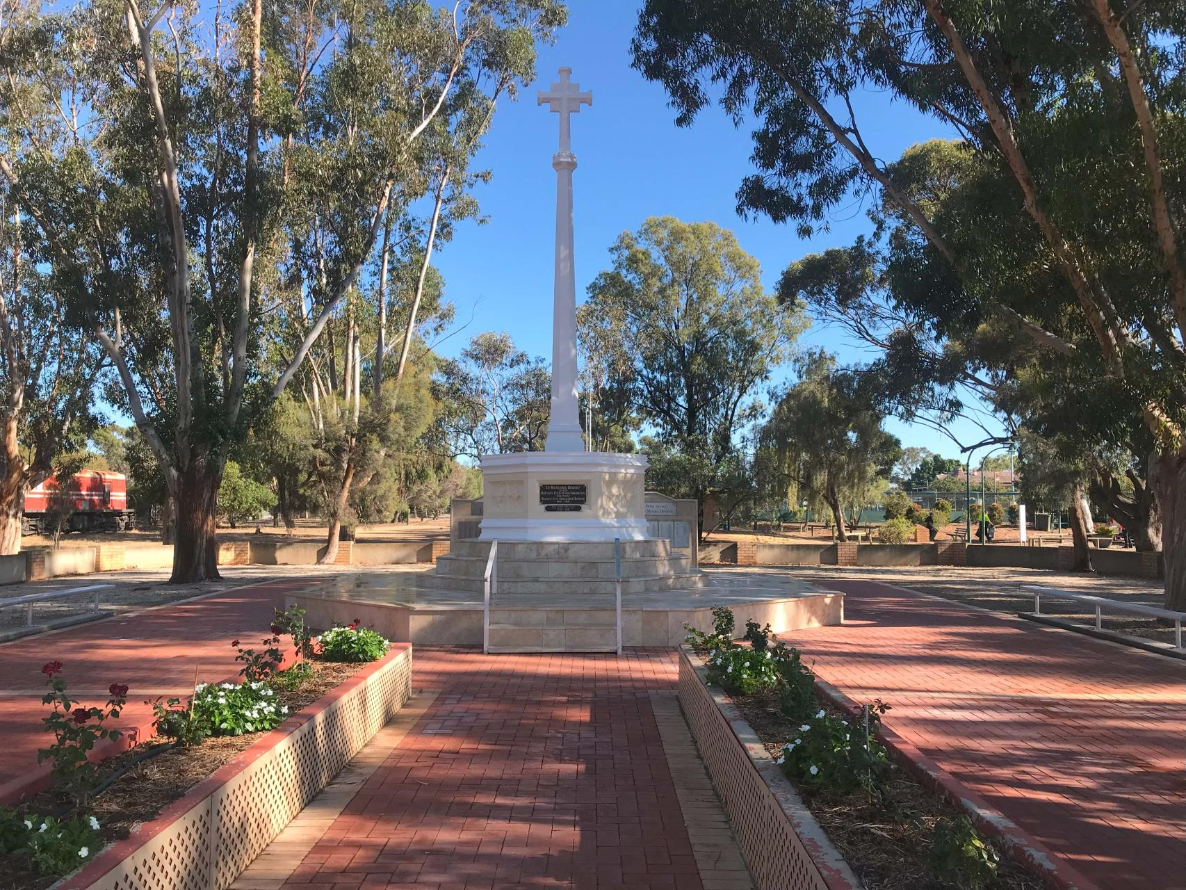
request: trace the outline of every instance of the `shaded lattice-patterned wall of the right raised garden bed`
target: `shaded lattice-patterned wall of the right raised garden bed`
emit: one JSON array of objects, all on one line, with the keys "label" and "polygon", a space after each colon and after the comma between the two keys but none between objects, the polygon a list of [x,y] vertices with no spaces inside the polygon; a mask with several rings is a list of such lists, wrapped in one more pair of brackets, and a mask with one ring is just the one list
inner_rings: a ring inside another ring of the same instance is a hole
[{"label": "shaded lattice-patterned wall of the right raised garden bed", "polygon": [[728,698],[680,651],[680,705],[757,890],[856,890],[848,863]]}]

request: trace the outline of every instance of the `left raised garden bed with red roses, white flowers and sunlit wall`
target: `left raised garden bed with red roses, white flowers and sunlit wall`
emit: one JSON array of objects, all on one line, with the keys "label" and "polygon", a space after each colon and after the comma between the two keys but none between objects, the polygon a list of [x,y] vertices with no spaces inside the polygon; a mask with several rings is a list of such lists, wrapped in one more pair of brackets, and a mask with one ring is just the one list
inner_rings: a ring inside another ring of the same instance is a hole
[{"label": "left raised garden bed with red roses, white flowers and sunlit wall", "polygon": [[[82,707],[47,662],[55,784],[0,808],[0,890],[70,871],[62,890],[225,890],[410,697],[408,644],[357,623],[311,640],[299,610],[272,632],[263,650],[231,643],[242,682],[158,700],[158,738],[98,764],[84,755],[117,737],[128,687]],[[285,632],[304,660],[285,656]]]}]

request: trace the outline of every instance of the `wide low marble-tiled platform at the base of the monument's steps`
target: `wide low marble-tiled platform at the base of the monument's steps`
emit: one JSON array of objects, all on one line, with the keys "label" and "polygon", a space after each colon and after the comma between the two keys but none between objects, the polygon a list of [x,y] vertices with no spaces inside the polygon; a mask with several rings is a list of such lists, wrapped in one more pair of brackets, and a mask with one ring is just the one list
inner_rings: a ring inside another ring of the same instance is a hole
[{"label": "wide low marble-tiled platform at the base of the monument's steps", "polygon": [[[307,610],[311,627],[356,618],[389,640],[421,646],[482,646],[483,596],[425,586],[425,571],[340,576],[288,597]],[[684,623],[712,627],[712,609],[731,606],[738,634],[745,622],[774,632],[840,624],[843,595],[772,568],[713,568],[701,586],[623,592],[624,646],[677,646]],[[613,595],[499,592],[491,608],[492,651],[612,651],[617,642]]]}]

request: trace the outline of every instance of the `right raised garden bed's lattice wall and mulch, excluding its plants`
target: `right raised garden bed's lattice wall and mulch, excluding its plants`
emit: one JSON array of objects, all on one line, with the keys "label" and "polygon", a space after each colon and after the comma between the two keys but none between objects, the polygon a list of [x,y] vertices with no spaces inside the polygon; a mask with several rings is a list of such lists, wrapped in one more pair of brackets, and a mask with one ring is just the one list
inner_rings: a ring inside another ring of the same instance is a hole
[{"label": "right raised garden bed's lattice wall and mulch, excluding its plants", "polygon": [[[683,649],[681,704],[759,890],[959,886],[936,873],[931,848],[936,827],[959,825],[962,810],[892,758],[884,765],[876,794],[863,788],[837,793],[795,781],[784,774],[777,758],[784,745],[804,735],[806,724],[783,713],[776,691],[731,697],[709,686],[704,663],[691,649]],[[829,704],[821,713],[849,720],[853,717]],[[722,732],[722,725],[731,732]],[[722,750],[726,748],[731,750]],[[754,771],[780,813],[771,813],[770,805],[763,807],[753,801]],[[795,838],[785,831],[785,837],[778,835],[772,822],[780,820],[793,829]],[[805,856],[810,864],[802,862]],[[1046,885],[1041,876],[1002,856],[996,873],[982,886],[1041,890]]]}]

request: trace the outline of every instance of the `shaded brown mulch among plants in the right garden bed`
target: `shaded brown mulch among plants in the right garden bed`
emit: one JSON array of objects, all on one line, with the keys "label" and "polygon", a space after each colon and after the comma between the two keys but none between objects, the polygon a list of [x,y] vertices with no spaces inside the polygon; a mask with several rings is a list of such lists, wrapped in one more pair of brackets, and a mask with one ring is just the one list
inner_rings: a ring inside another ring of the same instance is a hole
[{"label": "shaded brown mulch among plants in the right garden bed", "polygon": [[[777,756],[795,738],[797,724],[778,710],[777,694],[734,698],[733,704],[771,755]],[[954,884],[931,873],[927,852],[935,824],[944,816],[957,818],[961,810],[897,763],[891,763],[884,800],[863,792],[839,795],[792,783],[866,890],[955,890]],[[986,890],[1042,886],[1037,876],[1002,856],[996,877]]]}]

